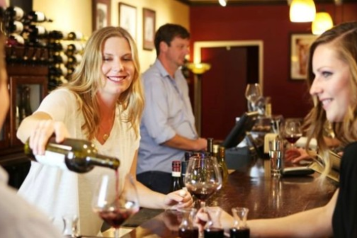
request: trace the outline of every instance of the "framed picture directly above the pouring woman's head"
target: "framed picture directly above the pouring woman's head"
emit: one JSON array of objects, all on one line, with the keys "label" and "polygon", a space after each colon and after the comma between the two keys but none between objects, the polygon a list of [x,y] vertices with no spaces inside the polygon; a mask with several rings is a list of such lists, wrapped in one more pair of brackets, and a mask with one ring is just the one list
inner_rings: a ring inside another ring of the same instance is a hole
[{"label": "framed picture directly above the pouring woman's head", "polygon": [[93,31],[111,25],[111,0],[92,0]]}]

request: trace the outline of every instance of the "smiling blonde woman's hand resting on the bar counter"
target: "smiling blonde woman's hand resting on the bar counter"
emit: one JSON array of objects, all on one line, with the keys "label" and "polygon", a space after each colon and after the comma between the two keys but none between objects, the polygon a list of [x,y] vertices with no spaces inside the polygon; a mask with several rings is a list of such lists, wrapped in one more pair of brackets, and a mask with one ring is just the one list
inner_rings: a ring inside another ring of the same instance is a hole
[{"label": "smiling blonde woman's hand resting on the bar counter", "polygon": [[171,206],[171,209],[191,208],[193,199],[188,191],[181,189],[167,194],[165,196],[164,204]]}]

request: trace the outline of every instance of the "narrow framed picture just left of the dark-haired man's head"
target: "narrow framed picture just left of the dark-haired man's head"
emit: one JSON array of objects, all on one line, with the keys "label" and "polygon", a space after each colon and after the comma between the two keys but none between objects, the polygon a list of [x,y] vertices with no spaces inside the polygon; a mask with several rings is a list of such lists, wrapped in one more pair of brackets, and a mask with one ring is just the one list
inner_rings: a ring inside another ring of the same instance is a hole
[{"label": "narrow framed picture just left of the dark-haired man's head", "polygon": [[154,49],[156,13],[154,10],[142,8],[142,47],[144,50]]}]

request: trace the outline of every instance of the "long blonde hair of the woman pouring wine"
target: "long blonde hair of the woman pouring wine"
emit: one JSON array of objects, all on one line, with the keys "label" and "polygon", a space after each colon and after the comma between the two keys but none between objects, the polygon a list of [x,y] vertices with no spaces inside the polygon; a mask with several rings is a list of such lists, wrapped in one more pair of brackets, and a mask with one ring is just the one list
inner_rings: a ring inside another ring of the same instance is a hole
[{"label": "long blonde hair of the woman pouring wine", "polygon": [[96,30],[86,42],[83,59],[79,67],[74,72],[71,81],[64,85],[77,95],[79,108],[84,114],[85,123],[81,129],[86,133],[88,140],[92,140],[98,131],[100,122],[98,101],[96,93],[103,86],[101,78],[103,72],[103,45],[108,38],[125,38],[130,45],[132,60],[135,66],[135,74],[129,88],[120,94],[118,102],[123,111],[120,113],[120,120],[130,123],[135,130],[135,135],[139,136],[140,120],[144,108],[144,96],[142,91],[142,81],[140,79],[140,64],[137,55],[137,47],[132,36],[127,30],[120,27],[108,26]]}]

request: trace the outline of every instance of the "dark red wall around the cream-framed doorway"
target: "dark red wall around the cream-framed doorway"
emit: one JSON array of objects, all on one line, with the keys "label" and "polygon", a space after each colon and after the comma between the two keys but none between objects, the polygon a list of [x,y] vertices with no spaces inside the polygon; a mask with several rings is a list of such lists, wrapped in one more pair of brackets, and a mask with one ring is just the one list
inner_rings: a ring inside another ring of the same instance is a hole
[{"label": "dark red wall around the cream-framed doorway", "polygon": [[[331,14],[335,24],[357,21],[357,4],[317,6],[318,11],[322,8]],[[191,49],[193,42],[203,40],[263,40],[263,95],[271,96],[273,114],[285,118],[307,114],[307,87],[303,80],[289,79],[289,55],[290,34],[311,33],[311,23],[290,23],[288,5],[191,6],[190,31]]]}]

